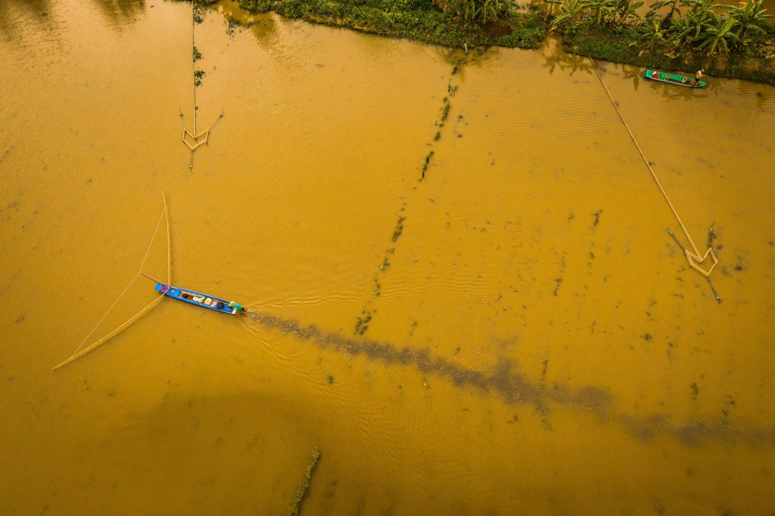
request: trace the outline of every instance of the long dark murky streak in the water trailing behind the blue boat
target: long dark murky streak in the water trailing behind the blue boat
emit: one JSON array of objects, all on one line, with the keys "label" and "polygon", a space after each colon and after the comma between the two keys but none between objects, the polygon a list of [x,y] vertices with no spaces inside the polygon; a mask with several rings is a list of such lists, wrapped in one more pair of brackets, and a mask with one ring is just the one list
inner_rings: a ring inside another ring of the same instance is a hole
[{"label": "long dark murky streak in the water trailing behind the blue boat", "polygon": [[350,339],[339,333],[321,331],[315,325],[301,327],[294,319],[282,319],[265,312],[250,311],[247,317],[267,327],[292,333],[299,339],[315,342],[322,349],[333,348],[350,356],[364,355],[369,359],[387,364],[398,363],[414,366],[422,373],[436,373],[453,384],[477,387],[484,392],[497,393],[506,404],[529,403],[542,415],[548,410],[549,401],[578,408],[597,415],[601,420],[621,425],[638,439],[651,439],[656,433],[672,435],[686,445],[698,445],[702,438],[715,438],[735,444],[738,440],[750,444],[775,445],[775,432],[771,428],[740,428],[728,421],[706,423],[689,421],[676,424],[669,415],[654,414],[645,418],[625,415],[615,408],[614,397],[608,390],[592,385],[580,388],[552,384],[546,388],[534,385],[515,372],[512,360],[501,358],[491,373],[460,366],[441,356],[432,356],[427,349],[398,348],[389,342],[374,339]]}]

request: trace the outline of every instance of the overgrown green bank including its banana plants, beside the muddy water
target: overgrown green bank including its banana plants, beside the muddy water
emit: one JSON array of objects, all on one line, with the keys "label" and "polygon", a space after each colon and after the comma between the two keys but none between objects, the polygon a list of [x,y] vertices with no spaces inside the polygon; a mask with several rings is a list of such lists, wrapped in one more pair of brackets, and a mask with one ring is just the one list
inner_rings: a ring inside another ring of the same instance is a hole
[{"label": "overgrown green bank including its banana plants, beside the muddy water", "polygon": [[[654,11],[645,17],[637,16],[637,5],[629,0],[619,0],[618,4],[626,4],[621,16],[617,16],[617,4],[608,2],[605,8],[605,0],[597,0],[601,15],[595,10],[595,0],[581,0],[576,9],[574,0],[564,0],[560,9],[553,11],[540,11],[532,5],[525,9],[498,0],[494,4],[491,0],[459,0],[443,6],[433,0],[239,0],[239,5],[251,12],[274,11],[308,22],[460,48],[498,45],[535,49],[552,31],[563,36],[563,46],[569,53],[666,71],[693,73],[704,68],[707,74],[717,77],[775,85],[775,28],[768,21],[756,22],[759,27],[753,31],[753,23],[729,21],[732,15],[719,14],[728,8],[716,5],[714,0],[687,1],[694,2],[680,4],[691,8],[684,9],[687,16],[682,18],[679,10],[667,20]],[[494,15],[487,17],[487,5],[498,8],[491,8]],[[704,15],[705,21],[699,15],[692,18],[697,12]],[[768,17],[760,15],[761,19]],[[696,33],[694,26],[684,30],[689,26],[686,19],[699,19]],[[727,21],[729,33],[718,36]],[[663,29],[653,29],[655,23]],[[735,26],[740,27],[739,38],[733,34]]]}]

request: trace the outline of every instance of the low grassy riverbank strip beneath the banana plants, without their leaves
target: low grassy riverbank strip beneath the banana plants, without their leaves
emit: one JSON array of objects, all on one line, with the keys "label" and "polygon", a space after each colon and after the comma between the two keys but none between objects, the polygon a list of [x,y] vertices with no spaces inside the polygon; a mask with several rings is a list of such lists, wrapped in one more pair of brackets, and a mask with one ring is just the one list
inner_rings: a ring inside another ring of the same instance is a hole
[{"label": "low grassy riverbank strip beneath the banana plants, without their leaves", "polygon": [[775,85],[775,29],[769,29],[744,52],[708,57],[654,45],[632,26],[574,27],[563,34],[546,15],[515,6],[486,23],[465,21],[432,0],[240,0],[250,12],[274,11],[293,19],[346,27],[381,36],[409,38],[443,46],[507,46],[536,49],[547,33],[563,35],[569,53],[667,71],[693,73],[704,68],[716,77],[747,79]]}]

